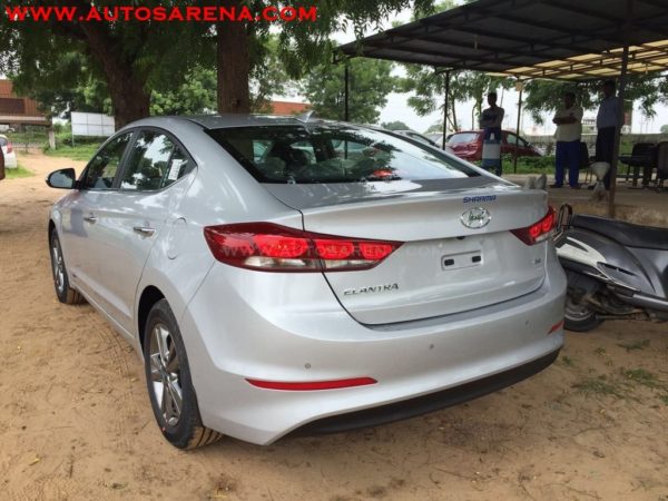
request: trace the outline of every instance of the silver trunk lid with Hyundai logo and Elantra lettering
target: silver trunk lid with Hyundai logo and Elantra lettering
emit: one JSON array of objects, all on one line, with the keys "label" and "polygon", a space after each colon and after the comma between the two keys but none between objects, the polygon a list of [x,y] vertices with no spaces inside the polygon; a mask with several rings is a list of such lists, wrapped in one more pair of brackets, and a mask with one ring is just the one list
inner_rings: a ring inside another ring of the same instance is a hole
[{"label": "silver trunk lid with Hyundai logo and Elantra lettering", "polygon": [[546,215],[544,191],[483,176],[402,183],[266,185],[302,212],[308,232],[403,243],[372,269],[324,274],[355,320],[448,315],[540,287],[546,244],[529,246],[510,230]]}]

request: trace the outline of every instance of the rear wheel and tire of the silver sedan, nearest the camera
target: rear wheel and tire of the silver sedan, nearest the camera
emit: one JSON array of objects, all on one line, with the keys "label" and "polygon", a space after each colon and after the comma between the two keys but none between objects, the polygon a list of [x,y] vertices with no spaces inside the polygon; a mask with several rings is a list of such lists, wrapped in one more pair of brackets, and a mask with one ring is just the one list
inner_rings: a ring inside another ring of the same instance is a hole
[{"label": "rear wheel and tire of the silver sedan, nearest the camera", "polygon": [[223,436],[202,424],[188,356],[166,299],[158,301],[148,314],[144,366],[154,415],[171,445],[195,449]]}]

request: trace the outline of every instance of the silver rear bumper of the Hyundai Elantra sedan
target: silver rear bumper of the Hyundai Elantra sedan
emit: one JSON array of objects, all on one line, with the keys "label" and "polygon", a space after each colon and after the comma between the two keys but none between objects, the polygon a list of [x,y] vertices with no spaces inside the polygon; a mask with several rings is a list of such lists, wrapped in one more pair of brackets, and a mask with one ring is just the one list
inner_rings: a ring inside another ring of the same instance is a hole
[{"label": "silver rear bumper of the Hyundai Elantra sedan", "polygon": [[[550,331],[563,318],[566,277],[553,255],[547,268],[543,285],[525,296],[371,327],[341,307],[322,275],[216,264],[179,318],[203,422],[268,444],[308,431],[308,423],[321,431],[338,421],[375,424],[414,415],[404,407],[416,403],[429,412],[513,384],[547,366],[563,344],[562,328]],[[276,391],[246,381],[362,376],[377,383]]]}]

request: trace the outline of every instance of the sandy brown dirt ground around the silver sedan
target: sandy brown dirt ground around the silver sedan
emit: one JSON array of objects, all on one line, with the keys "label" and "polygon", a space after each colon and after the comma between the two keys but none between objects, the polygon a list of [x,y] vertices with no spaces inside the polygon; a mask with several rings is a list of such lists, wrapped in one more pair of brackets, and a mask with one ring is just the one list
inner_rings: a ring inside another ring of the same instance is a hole
[{"label": "sandy brown dirt ground around the silver sedan", "polygon": [[20,161],[0,183],[0,498],[668,501],[668,326],[569,333],[559,361],[422,418],[261,448],[171,448],[141,363],[88,305],[53,294],[47,215],[62,193]]}]

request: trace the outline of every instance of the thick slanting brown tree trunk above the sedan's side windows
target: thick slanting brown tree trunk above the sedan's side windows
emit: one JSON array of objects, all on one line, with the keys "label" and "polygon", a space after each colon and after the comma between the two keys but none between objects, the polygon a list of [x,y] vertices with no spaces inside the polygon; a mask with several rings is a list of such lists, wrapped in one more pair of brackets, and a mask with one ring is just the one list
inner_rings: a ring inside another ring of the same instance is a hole
[{"label": "thick slanting brown tree trunk above the sedan's side windows", "polygon": [[91,55],[102,66],[116,128],[131,121],[148,117],[150,97],[144,89],[144,80],[132,69],[132,61],[121,59],[122,51],[108,31],[100,23],[81,23]]}]

